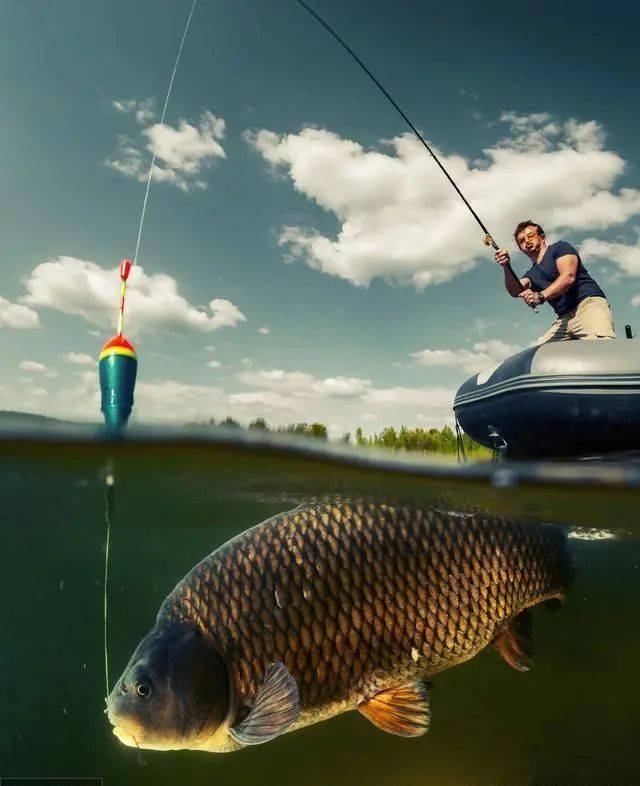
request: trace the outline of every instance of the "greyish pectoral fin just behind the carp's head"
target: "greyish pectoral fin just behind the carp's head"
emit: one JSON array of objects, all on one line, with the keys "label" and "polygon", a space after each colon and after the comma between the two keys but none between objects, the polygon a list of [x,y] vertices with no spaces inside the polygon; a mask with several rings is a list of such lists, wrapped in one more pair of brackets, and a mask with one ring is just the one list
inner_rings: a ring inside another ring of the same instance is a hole
[{"label": "greyish pectoral fin just behind the carp's head", "polygon": [[283,663],[272,663],[251,712],[229,734],[242,745],[260,745],[284,734],[300,714],[296,681]]}]

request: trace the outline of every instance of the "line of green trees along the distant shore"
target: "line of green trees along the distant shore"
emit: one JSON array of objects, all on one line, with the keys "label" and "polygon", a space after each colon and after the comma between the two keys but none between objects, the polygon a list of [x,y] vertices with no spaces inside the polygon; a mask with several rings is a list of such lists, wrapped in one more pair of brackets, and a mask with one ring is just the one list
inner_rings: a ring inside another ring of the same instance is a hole
[{"label": "line of green trees along the distant shore", "polygon": [[[190,424],[202,426],[201,423]],[[234,418],[227,417],[216,423],[211,418],[207,426],[224,426],[226,428],[238,428],[243,426]],[[247,427],[249,431],[263,431],[274,434],[298,434],[305,437],[315,437],[327,441],[329,432],[324,423],[290,423],[288,426],[270,426],[264,418],[255,418]],[[409,428],[401,426],[399,429],[387,426],[380,432],[365,434],[362,428],[358,427],[352,435],[350,432],[343,434],[338,440],[345,444],[364,445],[372,448],[387,448],[388,450],[407,450],[420,451],[422,453],[456,453],[458,443],[455,432],[451,426],[438,428]],[[478,454],[489,453],[489,451],[479,445],[466,434],[461,434],[462,447],[466,453]]]}]

